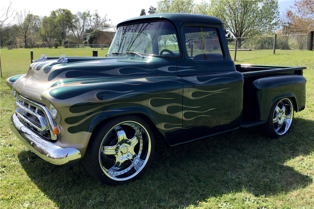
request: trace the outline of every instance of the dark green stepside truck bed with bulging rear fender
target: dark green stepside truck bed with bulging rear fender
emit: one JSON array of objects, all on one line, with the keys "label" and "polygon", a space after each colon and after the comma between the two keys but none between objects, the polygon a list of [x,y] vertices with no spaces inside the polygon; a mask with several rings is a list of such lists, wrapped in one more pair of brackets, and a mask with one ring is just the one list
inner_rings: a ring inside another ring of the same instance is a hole
[{"label": "dark green stepside truck bed with bulging rear fender", "polygon": [[300,93],[305,90],[304,69],[306,67],[236,65],[236,71],[244,76],[241,127],[265,123],[273,100],[280,94],[293,97],[294,110],[299,112],[299,104],[305,103],[305,93]]}]

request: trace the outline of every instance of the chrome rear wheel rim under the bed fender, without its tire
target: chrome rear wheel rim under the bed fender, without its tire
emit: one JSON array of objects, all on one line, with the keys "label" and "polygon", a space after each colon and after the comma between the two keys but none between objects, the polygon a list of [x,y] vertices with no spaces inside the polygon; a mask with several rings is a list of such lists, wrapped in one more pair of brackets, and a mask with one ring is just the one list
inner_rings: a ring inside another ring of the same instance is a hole
[{"label": "chrome rear wheel rim under the bed fender, without its tire", "polygon": [[273,113],[274,131],[279,135],[286,133],[290,128],[292,118],[293,105],[291,101],[287,98],[280,100]]}]

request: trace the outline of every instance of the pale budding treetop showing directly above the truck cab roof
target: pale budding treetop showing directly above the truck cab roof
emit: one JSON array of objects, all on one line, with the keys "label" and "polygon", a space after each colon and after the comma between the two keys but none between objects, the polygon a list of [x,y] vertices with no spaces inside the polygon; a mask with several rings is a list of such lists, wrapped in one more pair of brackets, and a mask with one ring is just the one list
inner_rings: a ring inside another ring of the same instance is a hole
[{"label": "pale budding treetop showing directly above the truck cab roof", "polygon": [[157,13],[193,13],[193,0],[162,0],[157,2]]}]

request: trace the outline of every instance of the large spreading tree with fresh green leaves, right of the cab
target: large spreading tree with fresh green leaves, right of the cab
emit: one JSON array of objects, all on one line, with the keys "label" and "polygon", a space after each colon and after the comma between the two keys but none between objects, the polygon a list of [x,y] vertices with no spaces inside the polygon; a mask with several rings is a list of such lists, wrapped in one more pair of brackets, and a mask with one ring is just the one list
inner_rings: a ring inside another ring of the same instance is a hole
[{"label": "large spreading tree with fresh green leaves, right of the cab", "polygon": [[236,38],[271,34],[280,23],[277,0],[213,0],[211,13]]}]

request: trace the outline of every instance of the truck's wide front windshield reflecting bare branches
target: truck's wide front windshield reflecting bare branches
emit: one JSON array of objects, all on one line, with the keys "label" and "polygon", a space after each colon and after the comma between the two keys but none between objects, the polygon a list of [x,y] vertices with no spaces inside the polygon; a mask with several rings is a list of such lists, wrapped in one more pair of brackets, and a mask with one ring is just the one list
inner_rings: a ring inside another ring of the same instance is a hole
[{"label": "truck's wide front windshield reflecting bare branches", "polygon": [[175,29],[163,21],[119,27],[108,54],[128,51],[168,57],[180,55]]}]

